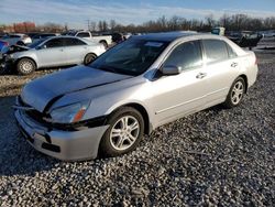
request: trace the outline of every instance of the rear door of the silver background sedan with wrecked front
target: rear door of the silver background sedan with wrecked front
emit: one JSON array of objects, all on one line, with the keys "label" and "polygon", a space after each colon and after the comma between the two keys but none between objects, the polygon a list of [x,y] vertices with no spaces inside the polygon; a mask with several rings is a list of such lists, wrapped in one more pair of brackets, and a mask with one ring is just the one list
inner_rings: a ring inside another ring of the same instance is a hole
[{"label": "rear door of the silver background sedan with wrecked front", "polygon": [[88,53],[87,44],[77,37],[64,39],[64,51],[67,64],[80,64]]}]

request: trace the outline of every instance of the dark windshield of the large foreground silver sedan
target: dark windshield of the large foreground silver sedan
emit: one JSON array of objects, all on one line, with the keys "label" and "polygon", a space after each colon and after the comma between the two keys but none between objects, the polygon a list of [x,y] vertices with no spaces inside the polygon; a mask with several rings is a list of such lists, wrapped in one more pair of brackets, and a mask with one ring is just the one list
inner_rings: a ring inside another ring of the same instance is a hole
[{"label": "dark windshield of the large foreground silver sedan", "polygon": [[129,40],[107,51],[89,66],[118,74],[141,75],[167,45],[168,42]]}]

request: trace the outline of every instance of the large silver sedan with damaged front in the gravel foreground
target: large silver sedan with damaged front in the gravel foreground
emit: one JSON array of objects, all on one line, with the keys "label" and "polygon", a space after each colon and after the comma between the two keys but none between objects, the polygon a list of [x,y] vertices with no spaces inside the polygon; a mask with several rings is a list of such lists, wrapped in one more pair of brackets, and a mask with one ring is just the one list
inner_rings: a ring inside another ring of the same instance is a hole
[{"label": "large silver sedan with damaged front in the gravel foreground", "polygon": [[117,156],[162,124],[240,105],[256,75],[255,54],[222,36],[132,36],[90,65],[25,85],[15,118],[33,148],[51,156]]}]

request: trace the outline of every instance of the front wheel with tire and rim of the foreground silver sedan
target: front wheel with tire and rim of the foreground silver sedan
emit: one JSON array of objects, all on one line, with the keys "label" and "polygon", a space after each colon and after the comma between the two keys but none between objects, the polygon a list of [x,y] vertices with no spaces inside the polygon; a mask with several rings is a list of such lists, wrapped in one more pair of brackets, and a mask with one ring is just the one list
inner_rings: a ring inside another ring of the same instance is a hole
[{"label": "front wheel with tire and rim of the foreground silver sedan", "polygon": [[119,156],[133,151],[144,134],[142,115],[131,107],[113,112],[108,120],[110,127],[103,134],[99,152],[101,156]]}]

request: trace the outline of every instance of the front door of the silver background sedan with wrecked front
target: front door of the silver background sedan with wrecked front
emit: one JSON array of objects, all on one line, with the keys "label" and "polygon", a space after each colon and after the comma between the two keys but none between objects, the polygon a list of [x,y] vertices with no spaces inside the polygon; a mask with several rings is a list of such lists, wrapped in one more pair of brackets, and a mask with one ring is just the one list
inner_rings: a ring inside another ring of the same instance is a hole
[{"label": "front door of the silver background sedan with wrecked front", "polygon": [[36,51],[40,67],[59,66],[66,63],[63,39],[51,39]]}]

